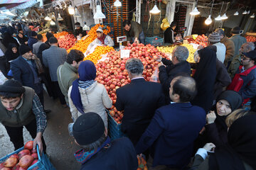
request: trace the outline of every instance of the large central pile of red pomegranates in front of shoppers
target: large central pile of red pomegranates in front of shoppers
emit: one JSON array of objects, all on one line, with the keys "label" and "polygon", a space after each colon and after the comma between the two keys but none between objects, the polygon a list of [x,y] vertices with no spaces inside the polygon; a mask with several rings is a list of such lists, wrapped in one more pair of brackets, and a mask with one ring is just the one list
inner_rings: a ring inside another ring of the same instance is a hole
[{"label": "large central pile of red pomegranates in front of shoppers", "polygon": [[[163,52],[159,52],[156,47],[152,45],[143,45],[136,43],[128,44],[124,50],[130,50],[130,57],[138,58],[144,65],[143,77],[147,81],[150,81],[151,75],[156,69],[159,62],[156,62],[156,58],[159,56],[167,57]],[[119,87],[129,84],[131,81],[128,76],[128,72],[125,69],[125,63],[129,58],[121,58],[120,51],[111,51],[107,55],[108,60],[99,62],[96,64],[97,78],[96,80],[105,86],[110,98],[113,101],[113,105],[117,101],[116,91]],[[110,115],[116,120],[117,123],[121,123],[123,113],[117,111],[117,108],[112,106]]]}]

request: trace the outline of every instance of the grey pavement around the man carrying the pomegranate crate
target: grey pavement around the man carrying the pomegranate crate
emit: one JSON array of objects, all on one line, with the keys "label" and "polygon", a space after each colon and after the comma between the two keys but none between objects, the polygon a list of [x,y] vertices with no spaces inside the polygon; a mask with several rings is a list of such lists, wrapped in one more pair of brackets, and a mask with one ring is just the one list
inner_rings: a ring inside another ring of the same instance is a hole
[{"label": "grey pavement around the man carrying the pomegranate crate", "polygon": [[[80,164],[74,157],[74,153],[79,147],[75,145],[73,137],[68,135],[68,123],[72,121],[69,108],[63,108],[58,99],[53,100],[46,93],[44,98],[45,108],[51,110],[47,115],[48,124],[43,133],[50,162],[57,170],[80,169]],[[23,132],[24,142],[32,139],[26,128],[23,129]],[[10,142],[4,126],[0,124],[0,158],[11,152],[14,152],[14,145]]]}]

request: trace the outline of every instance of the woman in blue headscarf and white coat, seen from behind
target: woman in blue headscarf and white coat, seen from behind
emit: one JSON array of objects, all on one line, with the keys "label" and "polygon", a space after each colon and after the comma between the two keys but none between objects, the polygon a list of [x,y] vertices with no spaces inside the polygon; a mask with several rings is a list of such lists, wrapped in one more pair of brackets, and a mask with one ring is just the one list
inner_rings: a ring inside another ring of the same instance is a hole
[{"label": "woman in blue headscarf and white coat, seen from behind", "polygon": [[76,79],[68,90],[68,101],[73,120],[75,121],[79,115],[95,112],[100,115],[107,128],[105,108],[111,108],[112,100],[108,96],[105,86],[95,81],[95,64],[90,60],[81,62],[78,74],[79,79]]}]

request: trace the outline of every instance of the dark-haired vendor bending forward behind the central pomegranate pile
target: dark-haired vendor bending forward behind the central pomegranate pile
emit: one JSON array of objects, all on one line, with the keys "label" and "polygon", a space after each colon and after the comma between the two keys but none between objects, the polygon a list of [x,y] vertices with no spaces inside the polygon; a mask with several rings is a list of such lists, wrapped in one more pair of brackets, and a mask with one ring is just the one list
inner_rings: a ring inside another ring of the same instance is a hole
[{"label": "dark-haired vendor bending forward behind the central pomegranate pile", "polygon": [[145,44],[145,35],[139,23],[125,20],[123,26],[127,35],[127,43],[135,42]]}]

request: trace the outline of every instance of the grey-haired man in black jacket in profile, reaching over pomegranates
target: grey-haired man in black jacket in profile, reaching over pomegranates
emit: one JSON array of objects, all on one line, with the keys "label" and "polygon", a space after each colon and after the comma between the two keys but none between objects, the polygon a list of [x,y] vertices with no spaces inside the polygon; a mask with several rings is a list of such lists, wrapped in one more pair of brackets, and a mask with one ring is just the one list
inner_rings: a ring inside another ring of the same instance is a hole
[{"label": "grey-haired man in black jacket in profile, reaching over pomegranates", "polygon": [[[166,101],[169,103],[169,88],[171,80],[178,75],[190,75],[191,66],[186,61],[188,59],[188,49],[184,46],[177,46],[171,53],[171,61],[165,58],[161,59],[159,64],[159,80],[163,87]],[[166,67],[164,66],[166,65]]]}]

